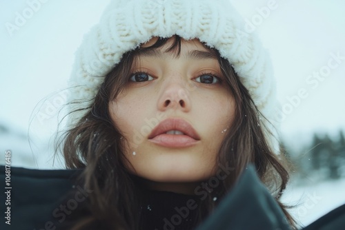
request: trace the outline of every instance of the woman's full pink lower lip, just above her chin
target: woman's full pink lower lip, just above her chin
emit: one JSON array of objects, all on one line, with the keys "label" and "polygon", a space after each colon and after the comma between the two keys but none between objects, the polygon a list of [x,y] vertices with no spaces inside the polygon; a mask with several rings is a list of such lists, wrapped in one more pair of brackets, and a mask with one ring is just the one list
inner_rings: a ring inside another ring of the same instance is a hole
[{"label": "woman's full pink lower lip, just above her chin", "polygon": [[191,138],[190,136],[174,134],[160,134],[149,140],[152,143],[164,147],[190,147],[199,141]]}]

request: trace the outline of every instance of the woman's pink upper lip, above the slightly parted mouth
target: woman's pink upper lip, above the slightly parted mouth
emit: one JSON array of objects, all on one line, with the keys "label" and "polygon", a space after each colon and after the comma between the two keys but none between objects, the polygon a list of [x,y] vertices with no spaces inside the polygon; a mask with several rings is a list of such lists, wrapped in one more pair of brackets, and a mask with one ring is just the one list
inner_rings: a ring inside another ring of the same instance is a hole
[{"label": "woman's pink upper lip, above the slightly parted mouth", "polygon": [[155,136],[165,134],[170,130],[178,130],[180,132],[183,132],[187,136],[194,138],[195,140],[200,140],[200,137],[193,126],[181,118],[168,118],[162,121],[154,129],[152,129],[152,132],[150,133],[150,136],[148,136],[148,138],[152,139]]}]

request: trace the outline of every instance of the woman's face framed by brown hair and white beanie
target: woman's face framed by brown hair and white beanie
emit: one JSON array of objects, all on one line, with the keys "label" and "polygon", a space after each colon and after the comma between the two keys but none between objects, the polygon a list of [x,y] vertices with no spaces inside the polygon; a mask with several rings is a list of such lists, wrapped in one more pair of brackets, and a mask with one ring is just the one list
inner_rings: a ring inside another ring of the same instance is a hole
[{"label": "woman's face framed by brown hair and white beanie", "polygon": [[235,114],[215,54],[197,39],[182,40],[179,56],[166,52],[171,44],[138,54],[128,84],[109,103],[112,121],[127,140],[128,169],[154,187],[215,174]]}]

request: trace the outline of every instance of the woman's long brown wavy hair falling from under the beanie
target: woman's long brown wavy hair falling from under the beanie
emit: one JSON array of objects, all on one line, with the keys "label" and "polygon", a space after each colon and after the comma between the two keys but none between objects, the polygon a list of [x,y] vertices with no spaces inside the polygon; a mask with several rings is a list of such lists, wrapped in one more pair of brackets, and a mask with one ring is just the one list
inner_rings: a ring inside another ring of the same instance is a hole
[{"label": "woman's long brown wavy hair falling from under the beanie", "polygon": [[[174,41],[166,52],[175,52],[178,56],[181,37],[175,35],[170,39]],[[130,174],[125,166],[127,159],[123,151],[124,141],[121,140],[121,132],[112,123],[108,103],[116,101],[119,92],[126,87],[135,56],[139,52],[160,48],[167,41],[166,38],[159,38],[148,48],[137,48],[124,54],[121,62],[105,76],[92,105],[83,108],[85,116],[57,144],[57,149],[61,148],[66,160],[66,168],[83,169],[79,182],[93,191],[87,202],[73,211],[64,227],[76,230],[140,229],[141,216],[138,210],[143,200],[144,188],[140,178]],[[228,163],[234,170],[198,205],[196,224],[217,206],[213,196],[221,200],[233,187],[246,165],[252,163],[259,178],[284,211],[290,226],[295,229],[295,220],[286,210],[288,207],[279,202],[289,178],[286,159],[283,154],[278,158],[270,148],[264,135],[266,127],[260,121],[260,117],[265,118],[255,106],[246,87],[239,81],[233,67],[217,50],[204,46],[217,55],[228,90],[236,101],[236,122],[230,126],[232,132],[227,132],[217,158],[219,165]]]}]

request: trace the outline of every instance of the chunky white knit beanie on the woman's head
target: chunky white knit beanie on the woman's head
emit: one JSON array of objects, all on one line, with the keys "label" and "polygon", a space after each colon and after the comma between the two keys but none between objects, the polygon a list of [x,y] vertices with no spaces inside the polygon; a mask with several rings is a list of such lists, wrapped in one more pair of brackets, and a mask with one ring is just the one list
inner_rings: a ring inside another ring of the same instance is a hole
[{"label": "chunky white knit beanie on the woman's head", "polygon": [[[77,50],[70,77],[70,111],[92,104],[104,76],[121,61],[121,56],[135,50],[152,36],[199,39],[216,48],[233,65],[240,80],[268,121],[276,122],[276,90],[268,53],[257,34],[244,30],[245,23],[229,0],[112,0],[100,22],[83,38]],[[77,103],[73,103],[77,102]],[[75,124],[86,110],[75,112]],[[276,135],[265,119],[264,125]],[[272,147],[275,138],[266,134]]]}]

